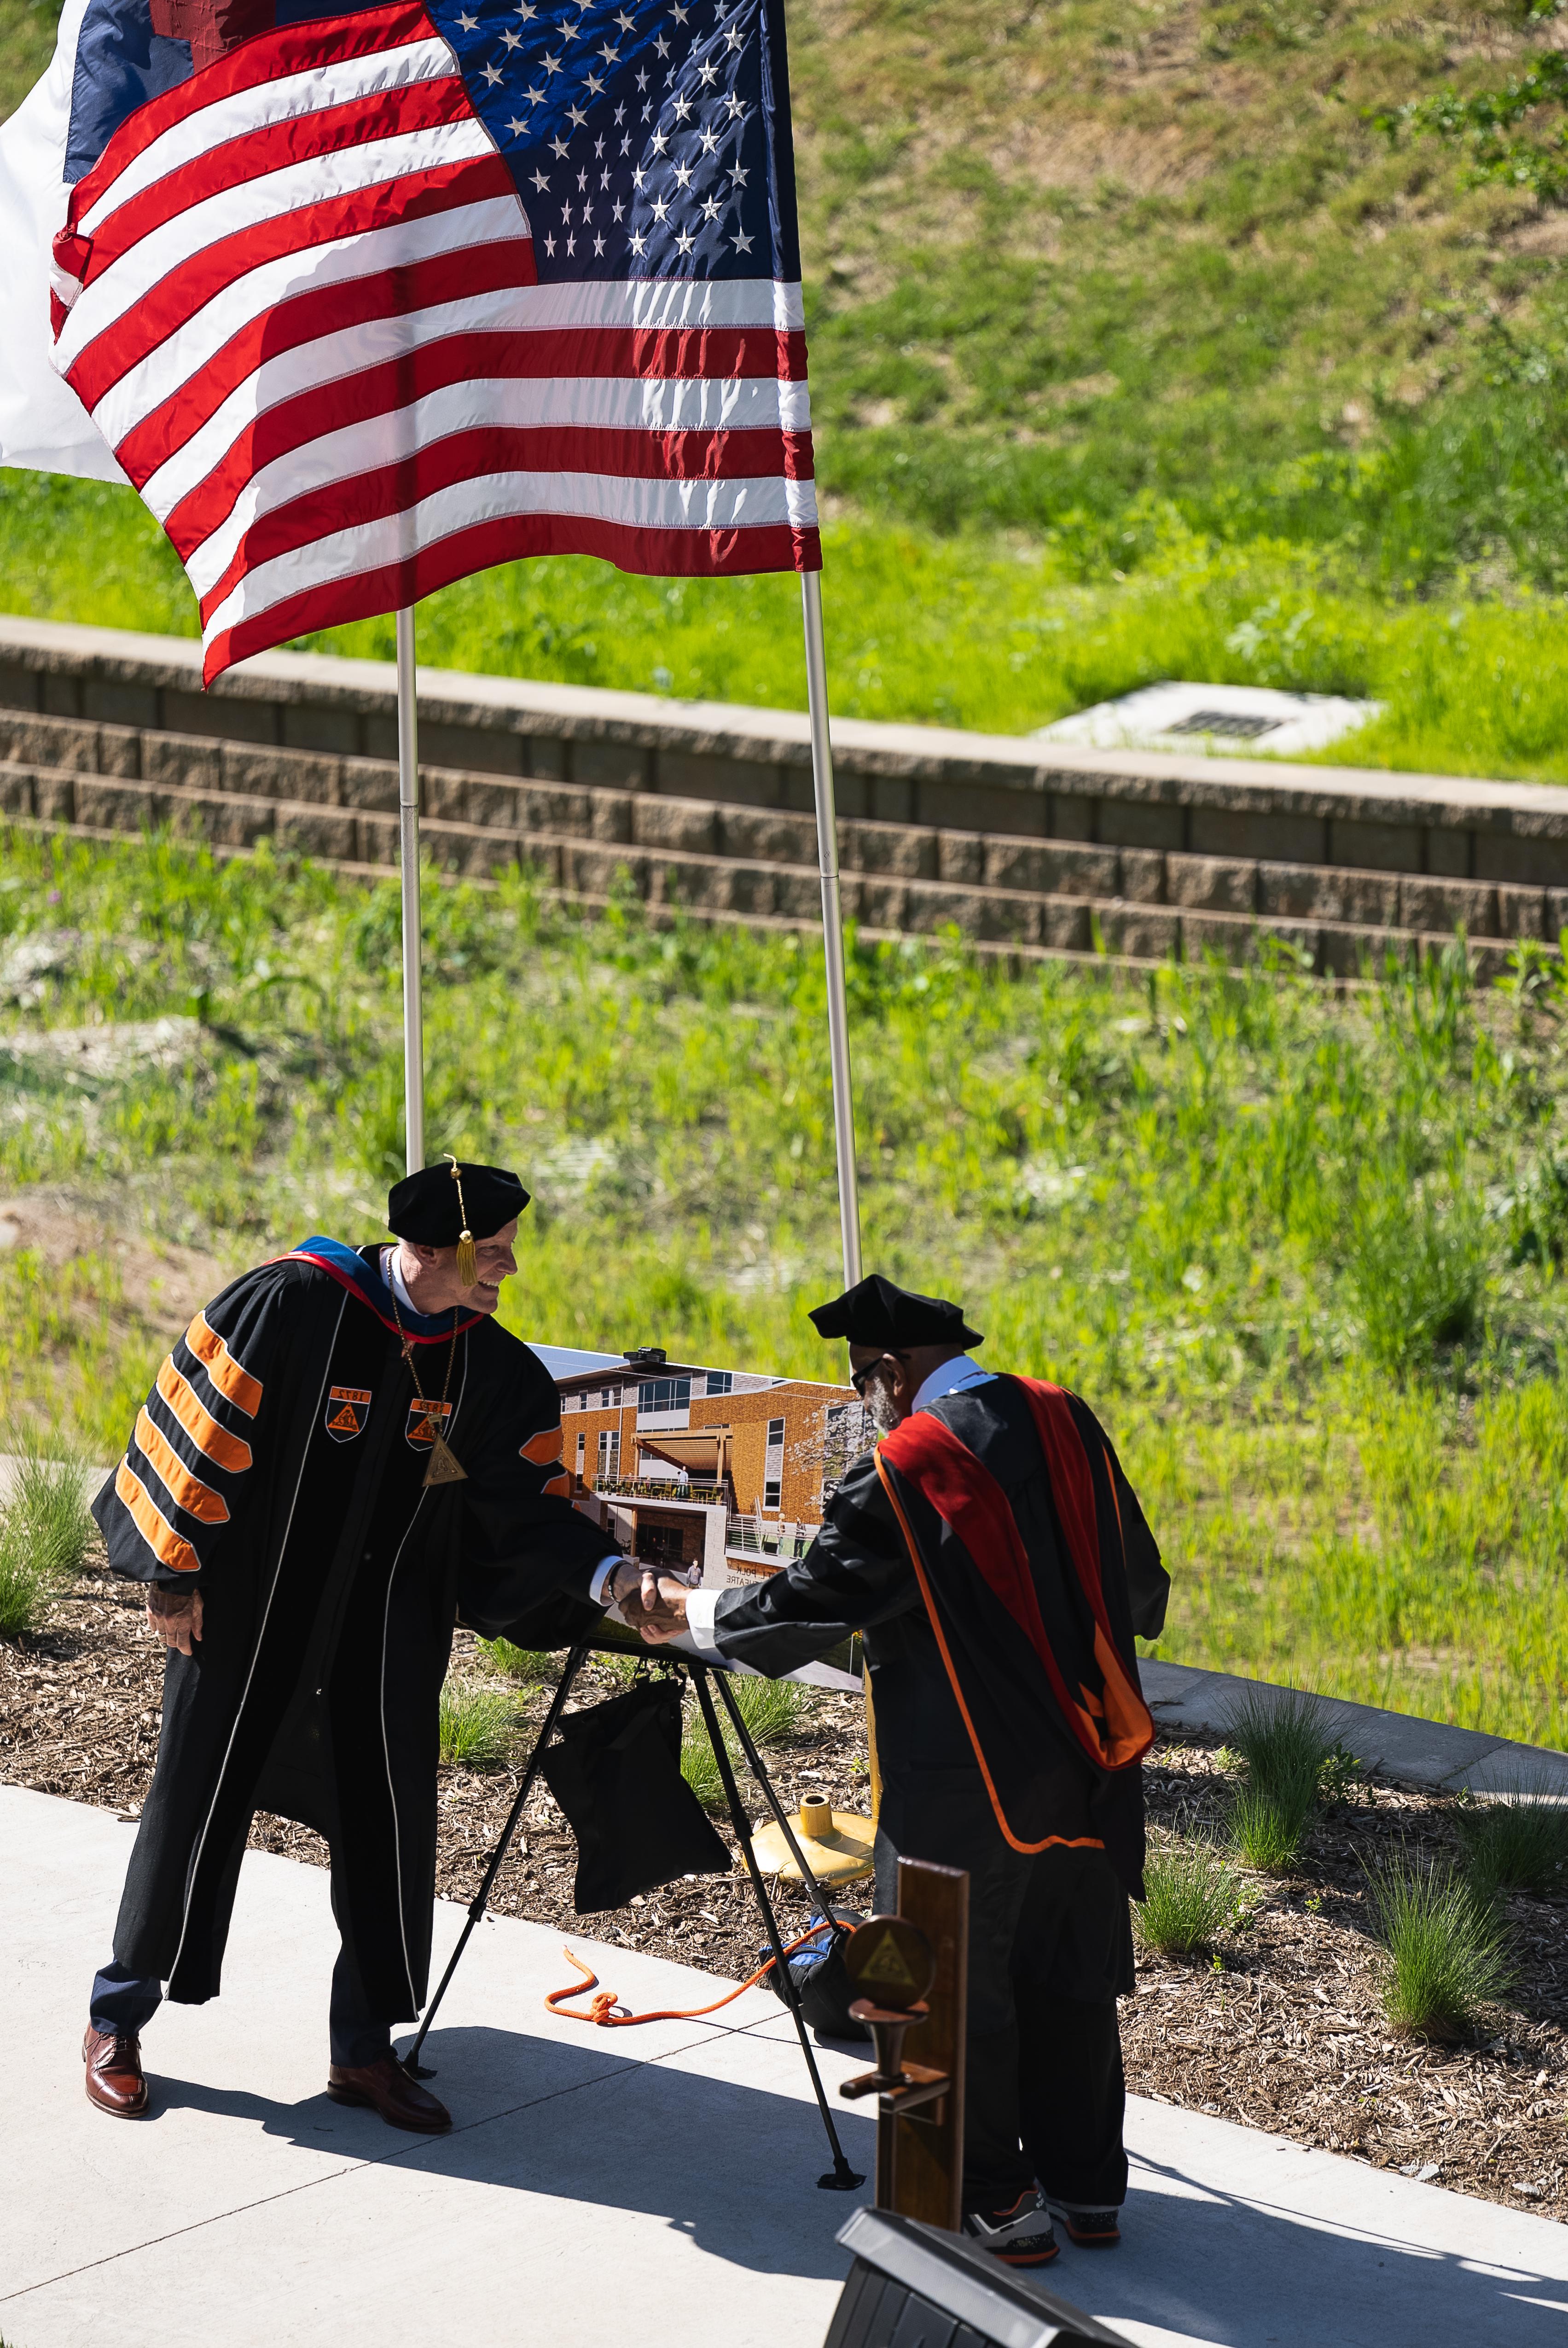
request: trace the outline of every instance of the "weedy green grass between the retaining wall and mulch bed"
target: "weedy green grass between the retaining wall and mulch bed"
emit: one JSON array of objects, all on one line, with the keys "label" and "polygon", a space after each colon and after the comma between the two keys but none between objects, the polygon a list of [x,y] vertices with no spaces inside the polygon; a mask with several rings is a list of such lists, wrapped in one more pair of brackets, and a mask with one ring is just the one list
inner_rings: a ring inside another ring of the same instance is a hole
[{"label": "weedy green grass between the retaining wall and mulch bed", "polygon": [[[108,1240],[0,1254],[14,1413],[124,1439],[190,1303],[115,1228],[254,1263],[401,1172],[397,892],[0,841],[0,1179]],[[843,1374],[822,958],[432,890],[432,1151],[535,1193],[528,1336]],[[852,949],[866,1261],[1103,1413],[1164,1653],[1568,1742],[1568,967],[1307,981]],[[143,1249],[146,1254],[146,1249]],[[162,1310],[162,1327],[160,1327]]]}]

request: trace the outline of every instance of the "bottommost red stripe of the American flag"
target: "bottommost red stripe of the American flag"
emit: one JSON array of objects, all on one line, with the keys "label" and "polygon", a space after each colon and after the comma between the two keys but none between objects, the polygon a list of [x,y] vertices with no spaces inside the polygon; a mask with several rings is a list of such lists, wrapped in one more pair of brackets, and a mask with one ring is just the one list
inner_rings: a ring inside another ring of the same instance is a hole
[{"label": "bottommost red stripe of the American flag", "polygon": [[472,571],[516,564],[538,554],[599,554],[620,571],[650,578],[744,578],[756,571],[819,571],[822,542],[815,528],[772,524],[753,531],[646,531],[582,514],[507,514],[458,528],[451,538],[399,556],[373,571],[303,589],[254,620],[235,620],[204,634],[207,676],[319,627],[343,627],[373,613],[418,603]]}]

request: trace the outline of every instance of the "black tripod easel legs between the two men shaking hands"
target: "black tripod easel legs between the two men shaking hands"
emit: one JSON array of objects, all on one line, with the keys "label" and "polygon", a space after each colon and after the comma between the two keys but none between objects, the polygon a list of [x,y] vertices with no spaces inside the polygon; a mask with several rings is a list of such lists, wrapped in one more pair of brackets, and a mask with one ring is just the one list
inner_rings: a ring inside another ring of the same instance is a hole
[{"label": "black tripod easel legs between the two men shaking hands", "polygon": [[[420,2029],[418,2029],[418,2036],[415,2036],[413,2045],[401,2057],[404,2071],[408,2071],[411,2078],[434,2078],[434,2071],[427,2071],[420,2064],[420,2047],[425,2045],[425,2038],[430,2033],[430,2024],[437,2019],[437,2010],[441,2005],[441,1998],[446,1996],[446,1989],[451,1984],[453,1972],[458,1970],[458,1961],[462,1958],[462,1951],[469,1944],[474,1925],[479,1923],[479,1918],[484,1916],[484,1911],[486,1911],[486,1907],[491,1902],[491,1890],[495,1888],[495,1876],[500,1874],[502,1860],[507,1857],[507,1850],[512,1848],[512,1836],[516,1834],[519,1820],[523,1815],[528,1796],[533,1794],[535,1780],[540,1775],[540,1761],[545,1756],[545,1747],[549,1745],[549,1738],[554,1735],[556,1721],[561,1719],[561,1712],[566,1709],[566,1698],[570,1695],[570,1688],[573,1688],[573,1681],[575,1681],[577,1672],[582,1669],[582,1665],[589,1658],[592,1644],[596,1644],[596,1641],[582,1641],[580,1646],[573,1646],[568,1651],[568,1655],[566,1655],[566,1669],[561,1672],[561,1681],[559,1681],[556,1693],[554,1693],[554,1698],[549,1702],[549,1712],[545,1714],[545,1726],[540,1728],[538,1740],[533,1745],[533,1752],[528,1754],[528,1768],[523,1770],[523,1782],[519,1784],[516,1799],[514,1799],[514,1803],[512,1803],[512,1808],[507,1813],[507,1824],[500,1829],[500,1841],[495,1843],[495,1850],[491,1853],[491,1857],[486,1862],[484,1881],[479,1883],[479,1890],[474,1892],[474,1897],[469,1902],[467,1923],[462,1925],[462,1932],[458,1935],[458,1946],[453,1949],[453,1954],[451,1954],[451,1958],[446,1963],[446,1972],[441,1975],[441,1982],[437,1986],[434,1998],[425,2008],[425,2019],[420,2022]],[[620,1655],[620,1653],[624,1653],[624,1648],[615,1646],[613,1653]],[[723,1707],[730,1714],[730,1726],[735,1728],[737,1745],[739,1745],[742,1754],[746,1756],[746,1768],[756,1777],[756,1782],[758,1782],[758,1787],[763,1792],[763,1799],[768,1801],[768,1808],[772,1810],[775,1820],[779,1822],[779,1827],[784,1831],[784,1841],[789,1843],[789,1855],[793,1857],[796,1867],[800,1869],[800,1881],[810,1890],[812,1902],[815,1902],[815,1907],[817,1907],[817,1911],[822,1916],[831,1916],[833,1911],[831,1911],[831,1907],[829,1907],[829,1902],[826,1902],[826,1897],[822,1892],[822,1885],[817,1883],[817,1876],[810,1869],[810,1860],[805,1857],[805,1850],[800,1848],[800,1841],[796,1836],[796,1822],[789,1817],[789,1813],[779,1803],[779,1796],[777,1796],[777,1792],[772,1787],[772,1777],[763,1768],[763,1756],[756,1749],[756,1740],[751,1738],[751,1730],[746,1728],[742,1709],[735,1702],[735,1693],[732,1693],[732,1688],[728,1684],[730,1674],[728,1672],[714,1674],[707,1662],[697,1662],[690,1655],[676,1655],[671,1648],[660,1648],[660,1662],[664,1662],[664,1665],[678,1665],[683,1672],[688,1672],[688,1676],[692,1679],[692,1686],[697,1688],[697,1702],[702,1707],[702,1723],[704,1723],[704,1728],[709,1733],[709,1742],[714,1747],[714,1761],[718,1763],[718,1782],[723,1784],[723,1799],[725,1799],[725,1806],[730,1810],[730,1824],[735,1827],[735,1838],[737,1838],[737,1843],[742,1848],[742,1857],[746,1862],[746,1874],[751,1876],[751,1890],[756,1892],[756,1904],[763,1911],[763,1923],[768,1928],[768,1946],[772,1949],[775,1977],[779,1982],[779,1989],[784,1991],[784,2003],[789,2005],[789,2015],[791,2015],[791,2019],[796,2024],[796,2036],[800,2040],[800,2052],[805,2054],[805,2069],[810,2071],[812,2092],[817,2097],[817,2111],[822,2113],[822,2125],[826,2130],[829,2148],[833,2153],[833,2167],[829,2170],[826,2177],[819,2177],[817,2184],[826,2193],[854,2193],[854,2188],[864,2186],[866,2179],[857,2177],[854,2170],[850,2167],[850,2163],[845,2158],[845,2148],[838,2141],[838,2130],[833,2127],[833,2111],[831,2111],[829,2099],[826,2099],[824,2087],[822,2087],[822,2073],[817,2071],[817,2052],[812,2047],[810,2031],[805,2026],[805,2015],[800,2012],[800,1991],[796,1986],[793,1972],[789,1970],[789,1958],[784,1956],[784,1935],[779,1932],[779,1918],[775,1916],[772,1900],[768,1897],[768,1885],[763,1881],[763,1869],[758,1867],[756,1853],[751,1848],[751,1822],[749,1822],[749,1817],[746,1817],[746,1813],[742,1808],[739,1787],[735,1784],[735,1768],[730,1766],[730,1747],[725,1745],[723,1733],[718,1728],[718,1714],[714,1709],[714,1691],[709,1686],[709,1681],[714,1676],[718,1679],[718,1695],[723,1698]]]}]

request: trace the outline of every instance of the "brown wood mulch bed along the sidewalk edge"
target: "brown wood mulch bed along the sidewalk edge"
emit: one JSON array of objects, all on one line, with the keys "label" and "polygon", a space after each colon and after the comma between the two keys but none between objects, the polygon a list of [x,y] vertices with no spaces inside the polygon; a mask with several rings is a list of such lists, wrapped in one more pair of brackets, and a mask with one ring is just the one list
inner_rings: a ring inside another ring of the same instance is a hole
[{"label": "brown wood mulch bed along the sidewalk edge", "polygon": [[[455,1669],[481,1667],[460,1632]],[[620,1684],[613,1667],[589,1665],[580,1700]],[[143,1632],[136,1592],[85,1573],[45,1632],[0,1644],[0,1780],[134,1820],[157,1754],[160,1688],[162,1658]],[[549,1691],[521,1691],[519,1700],[538,1723]],[[526,1735],[519,1745],[526,1749]],[[1160,1742],[1148,1761],[1155,1831],[1223,1831],[1228,1773],[1216,1747],[1216,1738],[1190,1735]],[[789,1803],[815,1792],[836,1808],[869,1810],[859,1700],[812,1691],[770,1770]],[[446,1897],[472,1897],[516,1782],[514,1768],[441,1770],[437,1878]],[[1246,1878],[1249,1916],[1209,1956],[1141,1951],[1138,1991],[1122,2005],[1129,2087],[1568,2219],[1568,1900],[1509,1897],[1519,1986],[1507,2008],[1488,2010],[1472,2043],[1425,2045],[1383,2022],[1364,1862],[1399,1843],[1451,1857],[1451,1820],[1446,1799],[1383,1782],[1354,1787],[1317,1822],[1293,1876]],[[258,1817],[251,1846],[326,1860],[319,1836],[284,1820]],[[493,1907],[559,1925],[563,1942],[592,1937],[732,1979],[758,1965],[765,1935],[739,1864],[732,1876],[676,1883],[584,1918],[573,1911],[573,1869],[570,1831],[538,1789]],[[852,1885],[847,1904],[866,1890]],[[784,1921],[796,1930],[805,1921],[791,1888]]]}]

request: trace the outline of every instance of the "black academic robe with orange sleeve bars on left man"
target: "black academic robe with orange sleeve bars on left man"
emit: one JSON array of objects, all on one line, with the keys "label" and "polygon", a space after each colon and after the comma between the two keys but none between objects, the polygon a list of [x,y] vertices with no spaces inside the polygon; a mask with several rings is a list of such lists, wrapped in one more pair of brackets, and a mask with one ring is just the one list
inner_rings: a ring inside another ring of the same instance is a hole
[{"label": "black academic robe with orange sleeve bars on left man", "polygon": [[[115,1958],[216,1996],[256,1810],[331,1843],[378,2022],[425,2000],[439,1691],[458,1608],[488,1634],[587,1594],[606,1538],[570,1505],[545,1364],[488,1317],[404,1313],[378,1249],[307,1240],[235,1280],[162,1364],[94,1503],[115,1573],[202,1592],[169,1651],[157,1773]],[[432,1428],[465,1482],[425,1484]]]}]

